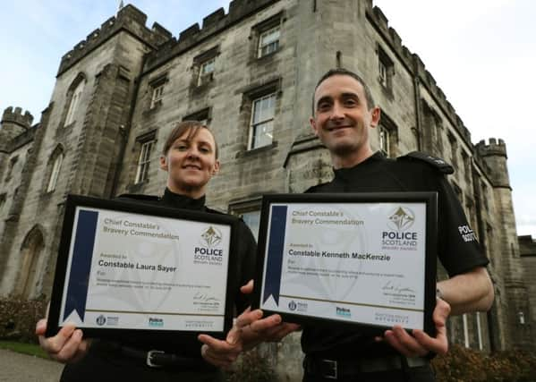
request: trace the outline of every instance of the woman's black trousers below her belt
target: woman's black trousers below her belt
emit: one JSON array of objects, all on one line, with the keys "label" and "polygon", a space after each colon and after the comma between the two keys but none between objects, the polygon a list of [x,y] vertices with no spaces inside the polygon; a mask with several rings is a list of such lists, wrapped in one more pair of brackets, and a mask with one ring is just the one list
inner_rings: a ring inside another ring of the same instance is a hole
[{"label": "woman's black trousers below her belt", "polygon": [[150,368],[127,357],[89,352],[81,361],[67,364],[61,382],[222,382],[220,371],[182,371]]}]

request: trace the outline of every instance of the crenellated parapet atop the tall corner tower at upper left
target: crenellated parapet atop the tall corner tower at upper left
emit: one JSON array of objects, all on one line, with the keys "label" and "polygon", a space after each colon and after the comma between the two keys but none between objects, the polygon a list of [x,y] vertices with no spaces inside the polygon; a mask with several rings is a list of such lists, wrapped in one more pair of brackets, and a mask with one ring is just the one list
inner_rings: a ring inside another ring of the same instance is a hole
[{"label": "crenellated parapet atop the tall corner tower at upper left", "polygon": [[83,57],[89,55],[89,53],[122,30],[128,31],[153,48],[161,46],[172,38],[171,32],[157,22],[153,24],[151,29],[147,28],[146,21],[147,15],[145,13],[142,13],[131,4],[124,6],[116,17],[106,20],[100,28],[89,33],[85,39],[81,40],[62,57],[57,76],[62,75],[73,64],[78,63]]}]

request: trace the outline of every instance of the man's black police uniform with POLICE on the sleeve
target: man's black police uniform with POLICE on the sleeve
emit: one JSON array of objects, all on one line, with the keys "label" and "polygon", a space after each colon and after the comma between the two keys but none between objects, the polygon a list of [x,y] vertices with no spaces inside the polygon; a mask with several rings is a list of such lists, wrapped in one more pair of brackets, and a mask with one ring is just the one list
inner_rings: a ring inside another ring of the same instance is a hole
[{"label": "man's black police uniform with POLICE on the sleeve", "polygon": [[[387,159],[376,153],[352,168],[335,170],[329,183],[306,192],[438,191],[438,257],[449,276],[486,266],[488,259],[478,242],[466,233],[469,225],[446,174],[453,168],[421,152]],[[434,380],[428,360],[405,359],[387,343],[374,341],[359,331],[304,327],[302,350],[306,354],[303,381]],[[409,363],[409,364],[408,364]],[[410,378],[410,379],[408,379]]]}]

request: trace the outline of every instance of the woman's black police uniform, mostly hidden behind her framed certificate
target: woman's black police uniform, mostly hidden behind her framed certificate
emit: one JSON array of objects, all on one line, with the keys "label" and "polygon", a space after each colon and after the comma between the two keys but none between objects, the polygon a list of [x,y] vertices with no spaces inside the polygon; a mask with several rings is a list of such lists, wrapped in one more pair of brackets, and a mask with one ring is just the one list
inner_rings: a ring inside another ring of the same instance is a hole
[{"label": "woman's black police uniform, mostly hidden behind her framed certificate", "polygon": [[[205,207],[204,196],[200,199],[191,199],[168,189],[161,198],[148,195],[124,195],[118,199],[221,214],[221,212]],[[238,225],[238,231],[240,238],[237,244],[238,261],[231,266],[236,267],[236,275],[240,278],[230,280],[230,282],[233,283],[232,290],[236,291],[236,308],[242,312],[250,305],[250,301],[240,293],[240,286],[253,278],[257,244],[250,229],[242,220]],[[65,365],[61,381],[214,382],[222,380],[220,370],[202,359],[201,345],[194,335],[191,340],[183,341],[181,344],[142,341],[135,336],[121,343],[94,339],[88,354],[81,361]],[[151,363],[157,367],[149,367],[147,364],[148,352],[153,350],[159,351],[149,354]]]}]

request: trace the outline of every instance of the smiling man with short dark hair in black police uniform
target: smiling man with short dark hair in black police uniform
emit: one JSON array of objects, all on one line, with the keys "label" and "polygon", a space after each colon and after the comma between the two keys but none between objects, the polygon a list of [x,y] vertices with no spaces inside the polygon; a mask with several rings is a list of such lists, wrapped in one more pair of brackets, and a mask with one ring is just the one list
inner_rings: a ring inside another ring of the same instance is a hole
[{"label": "smiling man with short dark hair in black police uniform", "polygon": [[451,314],[489,310],[493,288],[488,259],[472,237],[462,236],[468,224],[446,179],[454,170],[442,160],[414,152],[396,160],[370,149],[370,132],[380,110],[370,89],[354,72],[334,69],[319,80],[313,96],[311,127],[328,148],[335,178],[307,192],[438,192],[438,257],[448,278],[437,284],[433,319],[438,334],[408,334],[395,326],[373,337],[336,327],[303,327],[304,382],[433,381],[429,358],[447,352],[446,320]]}]

